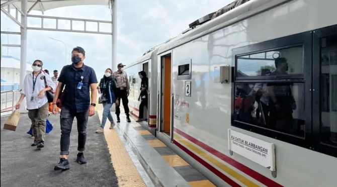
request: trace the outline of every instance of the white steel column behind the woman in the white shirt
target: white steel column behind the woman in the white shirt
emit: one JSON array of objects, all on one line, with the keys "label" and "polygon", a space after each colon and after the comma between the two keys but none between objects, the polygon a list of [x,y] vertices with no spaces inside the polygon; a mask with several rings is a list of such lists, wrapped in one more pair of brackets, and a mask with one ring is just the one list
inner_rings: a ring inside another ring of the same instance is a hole
[{"label": "white steel column behind the woman in the white shirt", "polygon": [[[28,0],[21,0],[21,48],[20,48],[20,89],[27,74],[27,10]],[[20,112],[26,112],[26,99],[22,101]]]}]

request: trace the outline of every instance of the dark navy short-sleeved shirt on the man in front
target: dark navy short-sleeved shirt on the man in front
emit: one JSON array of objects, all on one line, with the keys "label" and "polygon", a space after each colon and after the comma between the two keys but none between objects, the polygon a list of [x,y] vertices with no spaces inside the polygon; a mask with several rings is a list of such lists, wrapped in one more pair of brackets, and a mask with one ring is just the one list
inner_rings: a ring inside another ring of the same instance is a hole
[{"label": "dark navy short-sleeved shirt on the man in front", "polygon": [[[76,111],[76,113],[87,112],[91,99],[90,84],[98,82],[95,70],[85,64],[80,68],[66,65],[62,68],[58,81],[65,84],[62,107]],[[81,81],[83,85],[81,89],[78,89],[77,85]]]}]

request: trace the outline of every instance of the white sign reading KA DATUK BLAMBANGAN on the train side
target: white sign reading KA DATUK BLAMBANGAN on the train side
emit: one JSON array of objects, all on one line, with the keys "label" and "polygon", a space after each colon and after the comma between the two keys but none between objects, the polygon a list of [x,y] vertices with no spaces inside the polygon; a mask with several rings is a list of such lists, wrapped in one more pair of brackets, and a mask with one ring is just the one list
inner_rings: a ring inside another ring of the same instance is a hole
[{"label": "white sign reading KA DATUK BLAMBANGAN on the train side", "polygon": [[228,129],[228,149],[272,171],[276,170],[273,143]]}]

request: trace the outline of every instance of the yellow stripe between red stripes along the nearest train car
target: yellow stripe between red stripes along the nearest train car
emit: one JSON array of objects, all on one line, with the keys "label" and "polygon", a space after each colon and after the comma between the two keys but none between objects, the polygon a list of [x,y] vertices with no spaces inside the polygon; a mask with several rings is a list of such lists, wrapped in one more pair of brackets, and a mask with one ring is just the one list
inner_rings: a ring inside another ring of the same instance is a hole
[{"label": "yellow stripe between red stripes along the nearest train car", "polygon": [[226,166],[225,164],[221,163],[220,161],[218,161],[214,157],[208,155],[206,152],[204,152],[204,151],[200,150],[199,148],[197,148],[196,146],[192,145],[190,142],[188,142],[185,139],[183,139],[182,137],[180,137],[177,133],[175,133],[175,139],[178,140],[179,142],[181,142],[182,144],[186,145],[188,148],[190,148],[191,150],[193,150],[194,152],[196,152],[200,156],[204,157],[206,160],[210,161],[211,163],[213,163],[214,165],[219,167],[221,170],[225,171],[226,173],[228,173],[232,177],[236,178],[237,180],[242,182],[244,185],[251,186],[251,187],[259,187],[258,184],[250,181],[249,179],[242,176],[241,174],[234,171],[233,169]]}]

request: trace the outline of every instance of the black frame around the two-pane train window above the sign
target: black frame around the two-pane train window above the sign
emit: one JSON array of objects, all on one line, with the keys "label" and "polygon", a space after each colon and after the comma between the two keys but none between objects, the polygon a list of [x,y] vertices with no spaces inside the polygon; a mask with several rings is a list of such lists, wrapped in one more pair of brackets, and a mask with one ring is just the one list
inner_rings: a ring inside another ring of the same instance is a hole
[{"label": "black frame around the two-pane train window above the sign", "polygon": [[[237,72],[237,57],[248,54],[257,54],[277,49],[286,49],[296,46],[303,46],[303,74],[289,75],[286,77],[270,77],[262,76],[248,76],[248,77],[236,77]],[[300,147],[310,148],[310,137],[312,136],[312,117],[311,110],[305,110],[305,130],[304,136],[296,136],[292,134],[283,133],[268,128],[264,128],[254,124],[248,124],[234,120],[234,101],[235,101],[235,83],[238,82],[291,82],[291,83],[303,83],[303,94],[305,109],[311,109],[311,63],[312,62],[312,34],[311,32],[299,33],[291,36],[286,36],[278,39],[268,40],[256,44],[251,44],[239,48],[232,49],[232,92],[231,92],[231,126],[244,129],[250,132],[258,133],[270,138],[281,140],[283,142],[298,145]],[[282,81],[281,81],[282,80]]]}]

